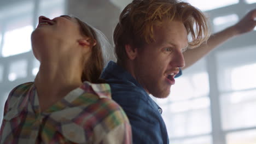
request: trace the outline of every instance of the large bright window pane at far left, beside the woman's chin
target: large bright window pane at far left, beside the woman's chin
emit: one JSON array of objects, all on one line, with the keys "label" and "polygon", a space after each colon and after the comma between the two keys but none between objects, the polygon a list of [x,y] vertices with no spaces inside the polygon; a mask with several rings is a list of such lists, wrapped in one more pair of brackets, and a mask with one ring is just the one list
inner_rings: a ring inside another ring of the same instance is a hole
[{"label": "large bright window pane at far left, beside the woman's chin", "polygon": [[31,50],[32,20],[31,17],[23,18],[8,22],[7,31],[4,34],[3,57],[17,55]]}]

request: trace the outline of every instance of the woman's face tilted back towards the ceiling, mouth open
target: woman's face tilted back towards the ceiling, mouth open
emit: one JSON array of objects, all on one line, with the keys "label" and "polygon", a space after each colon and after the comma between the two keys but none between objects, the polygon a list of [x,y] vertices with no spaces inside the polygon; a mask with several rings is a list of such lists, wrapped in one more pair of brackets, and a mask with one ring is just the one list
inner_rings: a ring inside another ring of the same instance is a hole
[{"label": "woman's face tilted back towards the ceiling, mouth open", "polygon": [[79,23],[74,17],[63,15],[51,20],[40,16],[38,26],[31,35],[34,56],[40,61],[40,57],[67,52],[82,38]]}]

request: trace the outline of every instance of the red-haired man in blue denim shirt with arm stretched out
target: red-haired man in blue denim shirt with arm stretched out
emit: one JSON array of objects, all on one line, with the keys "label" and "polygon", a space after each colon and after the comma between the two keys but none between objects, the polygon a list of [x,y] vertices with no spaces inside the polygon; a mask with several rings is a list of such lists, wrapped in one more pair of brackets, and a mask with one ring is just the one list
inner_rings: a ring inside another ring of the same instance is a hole
[{"label": "red-haired man in blue denim shirt with arm stretched out", "polygon": [[189,67],[225,40],[252,31],[255,17],[256,10],[252,10],[205,43],[206,18],[188,3],[134,0],[127,5],[114,30],[117,63],[109,62],[101,78],[110,84],[112,98],[129,117],[133,143],[168,143],[161,108],[149,94],[166,98],[181,68]]}]

